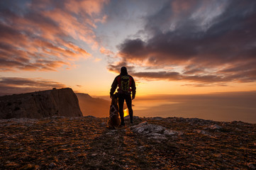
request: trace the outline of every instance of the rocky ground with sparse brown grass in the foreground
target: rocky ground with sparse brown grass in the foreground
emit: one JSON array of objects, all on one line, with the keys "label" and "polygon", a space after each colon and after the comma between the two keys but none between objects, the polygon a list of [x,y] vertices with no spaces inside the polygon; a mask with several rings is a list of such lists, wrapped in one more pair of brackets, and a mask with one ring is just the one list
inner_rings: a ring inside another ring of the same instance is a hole
[{"label": "rocky ground with sparse brown grass in the foreground", "polygon": [[255,169],[256,124],[196,118],[0,120],[0,169]]}]

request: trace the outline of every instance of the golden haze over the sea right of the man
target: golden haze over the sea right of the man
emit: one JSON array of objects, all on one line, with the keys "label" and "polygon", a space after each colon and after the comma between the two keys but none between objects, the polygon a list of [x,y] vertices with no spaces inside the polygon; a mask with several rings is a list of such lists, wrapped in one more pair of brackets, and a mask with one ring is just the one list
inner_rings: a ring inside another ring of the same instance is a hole
[{"label": "golden haze over the sea right of the man", "polygon": [[133,100],[140,117],[202,118],[256,123],[256,91],[201,95],[155,95]]}]

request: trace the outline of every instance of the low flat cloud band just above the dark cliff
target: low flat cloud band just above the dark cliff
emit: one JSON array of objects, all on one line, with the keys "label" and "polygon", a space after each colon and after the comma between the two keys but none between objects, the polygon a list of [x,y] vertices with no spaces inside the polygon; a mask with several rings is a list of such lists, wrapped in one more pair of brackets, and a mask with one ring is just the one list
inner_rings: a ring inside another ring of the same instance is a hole
[{"label": "low flat cloud band just above the dark cliff", "polygon": [[21,94],[67,87],[65,84],[48,79],[27,79],[21,77],[0,77],[0,94]]}]

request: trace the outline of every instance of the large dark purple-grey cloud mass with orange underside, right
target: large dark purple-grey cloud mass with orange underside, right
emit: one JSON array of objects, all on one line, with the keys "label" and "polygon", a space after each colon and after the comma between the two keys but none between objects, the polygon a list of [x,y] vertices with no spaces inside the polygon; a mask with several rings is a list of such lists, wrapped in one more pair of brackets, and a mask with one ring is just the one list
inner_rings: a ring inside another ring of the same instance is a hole
[{"label": "large dark purple-grey cloud mass with orange underside, right", "polygon": [[148,38],[121,42],[121,61],[108,69],[124,64],[135,77],[196,84],[256,81],[255,18],[252,0],[169,1],[145,17]]}]

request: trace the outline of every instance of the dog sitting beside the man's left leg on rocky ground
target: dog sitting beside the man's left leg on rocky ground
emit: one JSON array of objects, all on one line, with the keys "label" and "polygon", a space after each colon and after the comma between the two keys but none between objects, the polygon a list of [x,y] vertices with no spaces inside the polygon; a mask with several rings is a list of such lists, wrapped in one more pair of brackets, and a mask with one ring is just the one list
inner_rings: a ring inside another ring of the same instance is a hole
[{"label": "dog sitting beside the man's left leg on rocky ground", "polygon": [[108,128],[116,129],[120,125],[120,119],[118,117],[118,96],[114,94],[109,109]]}]

